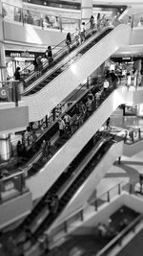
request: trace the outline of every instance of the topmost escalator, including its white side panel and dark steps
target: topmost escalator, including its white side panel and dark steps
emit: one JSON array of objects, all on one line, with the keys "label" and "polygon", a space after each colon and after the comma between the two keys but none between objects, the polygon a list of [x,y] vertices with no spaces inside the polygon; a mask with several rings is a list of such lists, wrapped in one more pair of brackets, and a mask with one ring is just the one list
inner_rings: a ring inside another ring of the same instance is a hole
[{"label": "topmost escalator, including its white side panel and dark steps", "polygon": [[120,46],[128,44],[129,35],[128,25],[121,24],[113,30],[111,27],[103,28],[75,48],[68,57],[53,65],[36,83],[32,82],[23,97],[30,107],[30,122],[44,118],[105,59]]}]

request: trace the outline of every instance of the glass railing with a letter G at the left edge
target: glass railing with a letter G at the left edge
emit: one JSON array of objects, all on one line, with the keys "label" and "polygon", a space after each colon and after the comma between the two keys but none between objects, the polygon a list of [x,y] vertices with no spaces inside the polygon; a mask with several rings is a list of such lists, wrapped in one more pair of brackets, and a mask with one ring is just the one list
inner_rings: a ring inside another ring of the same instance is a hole
[{"label": "glass railing with a letter G at the left edge", "polygon": [[21,100],[20,91],[23,84],[19,81],[0,81],[0,103],[14,102],[18,106]]}]

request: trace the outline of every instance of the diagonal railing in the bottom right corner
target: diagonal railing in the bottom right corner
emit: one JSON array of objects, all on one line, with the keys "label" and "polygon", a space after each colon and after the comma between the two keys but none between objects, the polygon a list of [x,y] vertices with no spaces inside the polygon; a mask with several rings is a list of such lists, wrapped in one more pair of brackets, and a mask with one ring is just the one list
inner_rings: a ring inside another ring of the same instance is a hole
[{"label": "diagonal railing in the bottom right corner", "polygon": [[143,221],[143,216],[142,215],[137,216],[135,218],[135,220],[133,220],[127,227],[125,227],[123,229],[123,231],[121,231],[117,236],[115,236],[115,238],[112,239],[112,241],[109,244],[107,244],[103,249],[101,249],[94,256],[107,256],[107,255],[110,255],[109,253],[111,252],[112,248],[115,245],[121,246],[125,236],[127,236],[130,232],[135,233],[135,226],[138,225],[142,221]]}]

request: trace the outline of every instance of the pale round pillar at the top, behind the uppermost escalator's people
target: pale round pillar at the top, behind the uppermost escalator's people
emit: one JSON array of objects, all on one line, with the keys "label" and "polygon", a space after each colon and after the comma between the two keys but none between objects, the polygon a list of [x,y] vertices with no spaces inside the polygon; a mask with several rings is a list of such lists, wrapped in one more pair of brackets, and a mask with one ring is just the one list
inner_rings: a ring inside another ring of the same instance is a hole
[{"label": "pale round pillar at the top, behind the uppermost escalator's people", "polygon": [[87,24],[92,16],[92,0],[81,1],[81,23]]}]

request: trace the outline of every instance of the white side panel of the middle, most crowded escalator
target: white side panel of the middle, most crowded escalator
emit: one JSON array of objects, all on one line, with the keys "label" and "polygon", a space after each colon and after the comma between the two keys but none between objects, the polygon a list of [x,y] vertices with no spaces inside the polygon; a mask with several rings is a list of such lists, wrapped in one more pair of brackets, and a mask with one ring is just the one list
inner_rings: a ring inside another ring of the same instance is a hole
[{"label": "white side panel of the middle, most crowded escalator", "polygon": [[[37,165],[34,165],[33,167],[31,166],[31,169],[29,170],[29,175],[31,177],[26,180],[26,183],[31,190],[33,199],[40,198],[46,193],[47,189],[51,187],[52,183],[54,183],[58,176],[60,176],[67,166],[69,166],[72,159],[92,138],[94,132],[96,132],[98,128],[101,128],[116,107],[120,105],[120,103],[124,102],[124,100],[120,99],[119,97],[118,101],[116,100],[114,102],[113,100],[113,98],[116,98],[117,91],[121,90],[122,88],[118,88],[113,92],[109,91],[110,95],[106,95],[106,101],[104,98],[104,100],[101,100],[98,108],[96,106],[92,108],[92,116],[90,116],[82,125],[82,128],[75,130],[70,139],[62,139],[60,145],[57,145],[59,150],[55,150],[55,153],[48,160],[48,162],[45,162],[43,167],[40,167],[41,169],[39,169]],[[111,102],[114,102],[114,104],[111,105]],[[45,133],[45,138],[46,136],[49,136],[48,132]]]}]

